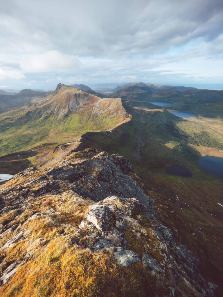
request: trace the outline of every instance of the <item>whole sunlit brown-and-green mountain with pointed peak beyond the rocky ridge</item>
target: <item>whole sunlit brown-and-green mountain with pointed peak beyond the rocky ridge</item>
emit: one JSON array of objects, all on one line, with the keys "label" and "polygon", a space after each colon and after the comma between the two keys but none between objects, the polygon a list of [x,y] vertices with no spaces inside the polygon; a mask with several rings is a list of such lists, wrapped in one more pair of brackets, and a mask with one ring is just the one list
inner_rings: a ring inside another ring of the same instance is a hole
[{"label": "whole sunlit brown-and-green mountain with pointed peak beyond the rocky ridge", "polygon": [[88,131],[111,130],[130,118],[120,98],[100,98],[58,84],[48,98],[1,115],[1,155],[42,143],[69,142]]}]

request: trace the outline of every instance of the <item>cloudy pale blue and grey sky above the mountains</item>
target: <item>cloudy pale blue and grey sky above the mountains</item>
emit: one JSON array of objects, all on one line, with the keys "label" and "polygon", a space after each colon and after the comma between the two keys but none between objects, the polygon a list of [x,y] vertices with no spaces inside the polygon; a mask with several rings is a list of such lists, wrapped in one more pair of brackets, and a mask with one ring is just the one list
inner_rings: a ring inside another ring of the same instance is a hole
[{"label": "cloudy pale blue and grey sky above the mountains", "polygon": [[223,89],[222,0],[1,1],[0,44],[0,89]]}]

